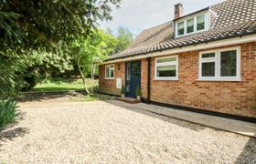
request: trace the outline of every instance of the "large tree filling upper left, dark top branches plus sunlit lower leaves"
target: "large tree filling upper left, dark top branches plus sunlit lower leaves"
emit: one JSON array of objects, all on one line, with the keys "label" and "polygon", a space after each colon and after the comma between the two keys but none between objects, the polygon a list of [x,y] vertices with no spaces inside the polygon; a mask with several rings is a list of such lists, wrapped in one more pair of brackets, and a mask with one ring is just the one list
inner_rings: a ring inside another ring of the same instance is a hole
[{"label": "large tree filling upper left, dark top branches plus sunlit lower leaves", "polygon": [[27,75],[67,68],[70,43],[90,36],[97,21],[110,20],[111,5],[120,2],[0,0],[0,96],[25,87]]}]

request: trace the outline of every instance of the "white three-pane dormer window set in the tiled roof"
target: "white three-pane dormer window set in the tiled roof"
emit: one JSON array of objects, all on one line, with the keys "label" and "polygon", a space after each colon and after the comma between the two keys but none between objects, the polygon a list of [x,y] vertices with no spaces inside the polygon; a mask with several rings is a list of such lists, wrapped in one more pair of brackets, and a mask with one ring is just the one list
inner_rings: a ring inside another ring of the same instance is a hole
[{"label": "white three-pane dormer window set in the tiled roof", "polygon": [[176,22],[176,37],[208,30],[208,13],[188,16]]}]

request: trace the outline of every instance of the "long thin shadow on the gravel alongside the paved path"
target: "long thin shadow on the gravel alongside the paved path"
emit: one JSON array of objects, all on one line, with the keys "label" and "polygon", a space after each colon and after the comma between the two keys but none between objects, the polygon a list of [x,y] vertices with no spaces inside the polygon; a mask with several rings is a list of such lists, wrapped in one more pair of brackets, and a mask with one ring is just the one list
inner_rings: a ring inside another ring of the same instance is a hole
[{"label": "long thin shadow on the gravel alongside the paved path", "polygon": [[[127,104],[125,106],[125,104],[123,102],[121,102],[122,104],[120,104],[120,103],[117,103],[116,101],[104,101],[104,102],[112,104],[112,105],[117,106],[117,107],[125,108],[127,110],[131,110],[133,112],[143,114],[145,116],[149,116],[149,117],[152,117],[152,118],[158,118],[158,119],[161,119],[161,120],[163,120],[165,122],[168,122],[170,124],[176,124],[176,126],[179,126],[179,127],[189,128],[189,129],[195,130],[195,131],[200,131],[200,130],[203,130],[203,129],[207,128],[205,126],[201,126],[199,124],[191,123],[191,122],[181,120],[181,119],[178,119],[178,118],[171,118],[171,117],[156,113],[156,111],[152,112],[152,111],[146,110],[144,108],[140,108],[139,106],[134,107],[134,106],[131,106],[131,104]],[[218,129],[216,129],[216,130],[218,130]]]}]

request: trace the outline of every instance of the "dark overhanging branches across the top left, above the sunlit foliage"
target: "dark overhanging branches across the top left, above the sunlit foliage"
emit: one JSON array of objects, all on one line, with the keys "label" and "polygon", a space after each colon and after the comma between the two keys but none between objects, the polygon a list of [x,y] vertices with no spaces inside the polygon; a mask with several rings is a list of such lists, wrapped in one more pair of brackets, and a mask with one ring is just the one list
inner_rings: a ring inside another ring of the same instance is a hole
[{"label": "dark overhanging branches across the top left, above the sunlit foliage", "polygon": [[[50,46],[88,35],[99,20],[110,20],[121,0],[0,0],[0,45]],[[8,41],[8,42],[7,42]]]}]

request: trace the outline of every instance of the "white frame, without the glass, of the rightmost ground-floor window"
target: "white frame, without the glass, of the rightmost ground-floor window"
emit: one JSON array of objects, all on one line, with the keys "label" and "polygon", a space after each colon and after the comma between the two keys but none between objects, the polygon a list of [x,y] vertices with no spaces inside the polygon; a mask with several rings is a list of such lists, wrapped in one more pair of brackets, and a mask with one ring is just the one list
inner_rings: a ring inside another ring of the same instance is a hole
[{"label": "white frame, without the glass, of the rightmost ground-floor window", "polygon": [[[221,57],[220,54],[223,51],[237,51],[237,63],[236,63],[236,77],[221,77],[220,76],[220,64]],[[202,58],[203,54],[215,53],[215,57]],[[202,77],[202,63],[215,62],[215,77]],[[198,79],[202,81],[241,81],[240,78],[240,46],[234,46],[229,48],[221,48],[217,50],[201,51],[199,52],[198,60]]]}]

